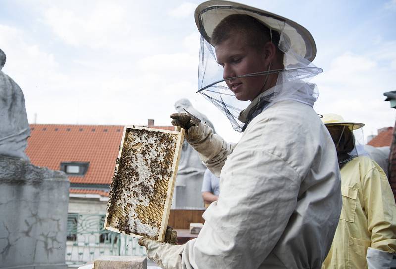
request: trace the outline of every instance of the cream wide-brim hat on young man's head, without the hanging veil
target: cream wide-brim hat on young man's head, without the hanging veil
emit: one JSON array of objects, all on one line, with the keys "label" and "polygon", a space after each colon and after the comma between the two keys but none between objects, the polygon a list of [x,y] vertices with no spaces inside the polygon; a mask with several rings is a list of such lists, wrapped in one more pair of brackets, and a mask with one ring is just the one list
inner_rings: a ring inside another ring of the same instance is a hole
[{"label": "cream wide-brim hat on young man's head, without the hanging veil", "polygon": [[214,28],[222,19],[232,14],[252,16],[269,29],[282,34],[283,39],[279,44],[282,51],[292,49],[295,54],[310,62],[315,58],[316,44],[307,29],[292,20],[262,9],[230,1],[214,0],[201,3],[195,10],[194,18],[202,37],[213,45],[211,36]]}]

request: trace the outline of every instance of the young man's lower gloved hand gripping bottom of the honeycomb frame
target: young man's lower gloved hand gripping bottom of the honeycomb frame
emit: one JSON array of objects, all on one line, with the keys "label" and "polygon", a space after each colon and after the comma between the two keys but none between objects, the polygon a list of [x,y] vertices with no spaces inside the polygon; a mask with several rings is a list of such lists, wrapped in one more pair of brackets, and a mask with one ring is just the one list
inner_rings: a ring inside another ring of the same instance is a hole
[{"label": "young man's lower gloved hand gripping bottom of the honeycomb frame", "polygon": [[139,245],[146,248],[147,257],[162,268],[181,268],[181,253],[184,245],[177,244],[177,232],[172,227],[166,228],[165,242],[162,243],[147,237],[139,239]]}]

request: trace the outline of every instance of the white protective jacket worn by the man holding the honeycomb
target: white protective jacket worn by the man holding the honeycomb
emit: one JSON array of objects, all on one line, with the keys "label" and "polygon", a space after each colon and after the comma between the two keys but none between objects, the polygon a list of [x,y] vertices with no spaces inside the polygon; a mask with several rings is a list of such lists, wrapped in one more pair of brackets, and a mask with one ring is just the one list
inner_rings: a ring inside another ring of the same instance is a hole
[{"label": "white protective jacket worn by the man holding the honeycomb", "polygon": [[164,268],[320,268],[342,204],[336,150],[315,111],[278,102],[236,145],[207,126],[193,128],[202,133],[189,143],[220,175],[219,200],[203,214],[198,238],[155,246],[148,256]]}]

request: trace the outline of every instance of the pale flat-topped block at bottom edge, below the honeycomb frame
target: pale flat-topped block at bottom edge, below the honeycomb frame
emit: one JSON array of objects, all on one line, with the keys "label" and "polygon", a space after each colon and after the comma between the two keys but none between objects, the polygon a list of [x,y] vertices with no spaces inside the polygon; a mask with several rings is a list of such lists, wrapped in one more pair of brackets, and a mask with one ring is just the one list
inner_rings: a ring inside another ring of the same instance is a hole
[{"label": "pale flat-topped block at bottom edge, below the honeycomb frame", "polygon": [[101,256],[94,261],[94,269],[146,269],[146,257]]}]

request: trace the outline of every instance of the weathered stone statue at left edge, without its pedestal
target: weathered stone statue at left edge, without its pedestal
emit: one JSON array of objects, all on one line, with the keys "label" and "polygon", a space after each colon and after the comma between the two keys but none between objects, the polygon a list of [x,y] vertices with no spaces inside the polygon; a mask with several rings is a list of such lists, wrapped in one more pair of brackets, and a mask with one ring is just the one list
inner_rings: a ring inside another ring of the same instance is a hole
[{"label": "weathered stone statue at left edge, without its pedestal", "polygon": [[25,154],[30,128],[21,88],[4,74],[6,56],[0,49],[0,155],[29,158]]}]

